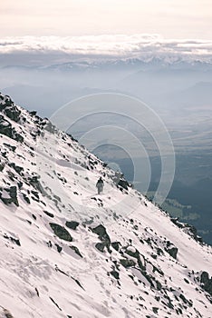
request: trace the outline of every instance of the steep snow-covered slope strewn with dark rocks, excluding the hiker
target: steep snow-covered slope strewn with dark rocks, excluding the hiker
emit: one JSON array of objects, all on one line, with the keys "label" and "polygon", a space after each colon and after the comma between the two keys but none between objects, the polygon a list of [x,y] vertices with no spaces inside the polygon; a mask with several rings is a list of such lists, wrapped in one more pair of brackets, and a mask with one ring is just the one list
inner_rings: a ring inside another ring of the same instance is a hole
[{"label": "steep snow-covered slope strewn with dark rocks, excluding the hiker", "polygon": [[3,94],[0,111],[0,317],[212,316],[194,228],[46,118]]}]

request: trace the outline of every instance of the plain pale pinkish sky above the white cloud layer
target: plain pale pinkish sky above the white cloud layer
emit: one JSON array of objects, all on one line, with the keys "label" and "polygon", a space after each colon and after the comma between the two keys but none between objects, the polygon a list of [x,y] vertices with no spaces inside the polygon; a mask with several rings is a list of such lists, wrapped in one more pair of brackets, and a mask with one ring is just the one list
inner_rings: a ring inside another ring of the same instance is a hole
[{"label": "plain pale pinkish sky above the white cloud layer", "polygon": [[0,0],[0,36],[212,38],[212,0]]}]

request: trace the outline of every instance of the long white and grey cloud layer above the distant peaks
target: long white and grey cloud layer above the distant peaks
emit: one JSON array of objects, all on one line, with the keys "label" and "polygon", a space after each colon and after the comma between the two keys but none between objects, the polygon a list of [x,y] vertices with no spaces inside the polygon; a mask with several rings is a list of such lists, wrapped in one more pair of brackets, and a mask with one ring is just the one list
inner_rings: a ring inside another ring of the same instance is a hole
[{"label": "long white and grey cloud layer above the distant peaks", "polygon": [[[0,56],[51,56],[62,60],[152,57],[212,62],[212,40],[164,39],[160,35],[24,36],[0,40]],[[56,57],[57,56],[57,57]],[[2,60],[1,60],[2,61]]]}]

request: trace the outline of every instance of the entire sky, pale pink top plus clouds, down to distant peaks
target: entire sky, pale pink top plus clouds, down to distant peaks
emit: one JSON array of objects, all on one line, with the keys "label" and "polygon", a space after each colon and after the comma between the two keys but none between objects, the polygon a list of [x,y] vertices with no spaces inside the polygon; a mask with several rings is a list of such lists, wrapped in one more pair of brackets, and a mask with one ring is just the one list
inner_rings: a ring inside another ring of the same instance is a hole
[{"label": "entire sky, pale pink top plus clouds, down to distant peaks", "polygon": [[212,0],[0,0],[0,65],[152,56],[212,61]]}]

